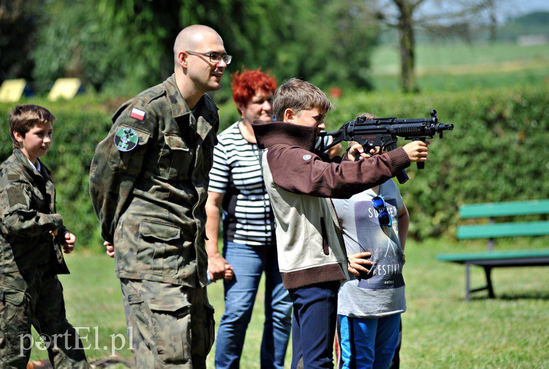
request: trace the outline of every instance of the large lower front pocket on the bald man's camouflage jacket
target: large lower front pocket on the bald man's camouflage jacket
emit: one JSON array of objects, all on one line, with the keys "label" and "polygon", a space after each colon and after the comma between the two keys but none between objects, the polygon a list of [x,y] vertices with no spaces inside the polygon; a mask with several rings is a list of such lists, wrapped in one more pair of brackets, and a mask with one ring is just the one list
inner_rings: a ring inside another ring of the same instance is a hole
[{"label": "large lower front pocket on the bald man's camouflage jacket", "polygon": [[138,269],[145,274],[173,277],[183,249],[181,230],[161,222],[139,222]]}]

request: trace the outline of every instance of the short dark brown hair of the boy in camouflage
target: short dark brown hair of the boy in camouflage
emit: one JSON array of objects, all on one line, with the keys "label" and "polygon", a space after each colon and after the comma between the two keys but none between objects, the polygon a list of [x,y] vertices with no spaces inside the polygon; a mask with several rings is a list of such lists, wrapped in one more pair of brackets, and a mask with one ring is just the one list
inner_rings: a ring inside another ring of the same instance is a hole
[{"label": "short dark brown hair of the boy in camouflage", "polygon": [[16,106],[10,112],[10,136],[13,148],[16,149],[19,147],[19,143],[15,139],[13,132],[17,132],[25,137],[25,134],[34,128],[34,126],[44,127],[47,123],[54,123],[55,120],[56,117],[42,106],[32,104]]}]

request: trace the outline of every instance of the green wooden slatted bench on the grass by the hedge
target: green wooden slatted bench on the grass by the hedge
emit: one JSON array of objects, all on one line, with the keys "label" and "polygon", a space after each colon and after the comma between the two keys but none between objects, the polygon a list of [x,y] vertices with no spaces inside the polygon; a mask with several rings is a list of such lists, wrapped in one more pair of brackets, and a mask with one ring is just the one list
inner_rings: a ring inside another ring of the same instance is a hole
[{"label": "green wooden slatted bench on the grass by the hedge", "polygon": [[[496,223],[497,217],[519,217],[520,215],[549,214],[549,200],[499,202],[488,204],[467,204],[460,206],[460,219],[489,218],[489,224],[458,226],[458,239],[488,239],[487,252],[466,252],[461,254],[439,254],[437,260],[465,265],[465,298],[471,293],[488,290],[493,293],[491,270],[493,267],[524,267],[549,265],[549,250],[494,251],[494,239],[500,237],[549,235],[548,221]],[[470,267],[484,268],[486,286],[471,289]]]}]

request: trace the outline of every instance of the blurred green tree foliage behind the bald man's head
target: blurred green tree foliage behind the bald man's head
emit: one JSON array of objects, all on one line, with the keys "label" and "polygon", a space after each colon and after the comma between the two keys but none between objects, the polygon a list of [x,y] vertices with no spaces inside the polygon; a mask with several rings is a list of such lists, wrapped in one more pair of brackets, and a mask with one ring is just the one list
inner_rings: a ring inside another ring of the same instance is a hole
[{"label": "blurred green tree foliage behind the bald man's head", "polygon": [[368,51],[379,29],[370,2],[41,1],[40,14],[34,14],[41,26],[27,59],[36,64],[38,90],[47,91],[56,78],[78,77],[97,91],[131,95],[173,72],[180,29],[205,24],[233,55],[229,73],[261,67],[280,81],[299,77],[322,88],[369,88]]}]

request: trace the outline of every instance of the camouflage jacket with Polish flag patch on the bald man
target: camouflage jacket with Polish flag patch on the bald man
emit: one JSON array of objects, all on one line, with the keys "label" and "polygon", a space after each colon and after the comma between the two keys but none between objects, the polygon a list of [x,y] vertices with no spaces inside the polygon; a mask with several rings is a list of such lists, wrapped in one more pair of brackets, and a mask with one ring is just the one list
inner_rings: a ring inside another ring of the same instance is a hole
[{"label": "camouflage jacket with Polish flag patch on the bald man", "polygon": [[123,104],[95,150],[90,194],[119,278],[207,283],[205,202],[218,108],[189,110],[174,75]]}]

